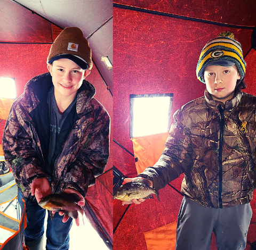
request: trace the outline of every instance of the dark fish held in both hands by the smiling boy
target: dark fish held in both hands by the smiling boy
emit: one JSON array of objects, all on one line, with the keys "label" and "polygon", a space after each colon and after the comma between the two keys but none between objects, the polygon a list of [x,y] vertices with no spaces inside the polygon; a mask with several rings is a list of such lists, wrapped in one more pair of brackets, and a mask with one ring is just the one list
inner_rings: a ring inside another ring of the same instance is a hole
[{"label": "dark fish held in both hands by the smiling boy", "polygon": [[81,206],[77,205],[80,197],[77,194],[70,193],[60,193],[60,194],[50,194],[41,199],[38,203],[43,209],[50,211],[60,212],[69,215],[72,219],[77,219],[79,211],[82,215],[84,210]]}]

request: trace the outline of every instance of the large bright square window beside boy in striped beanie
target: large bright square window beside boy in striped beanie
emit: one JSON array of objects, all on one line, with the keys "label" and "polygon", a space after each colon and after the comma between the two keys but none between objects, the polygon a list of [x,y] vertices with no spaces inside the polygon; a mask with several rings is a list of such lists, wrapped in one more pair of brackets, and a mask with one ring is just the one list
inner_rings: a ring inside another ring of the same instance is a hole
[{"label": "large bright square window beside boy in striped beanie", "polygon": [[130,95],[130,136],[141,137],[170,129],[173,93]]}]

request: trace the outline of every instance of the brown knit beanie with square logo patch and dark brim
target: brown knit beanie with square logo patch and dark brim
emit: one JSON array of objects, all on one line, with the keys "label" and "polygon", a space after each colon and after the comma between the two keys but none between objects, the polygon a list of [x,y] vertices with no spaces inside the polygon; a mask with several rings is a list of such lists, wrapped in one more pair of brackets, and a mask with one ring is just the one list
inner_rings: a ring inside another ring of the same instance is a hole
[{"label": "brown knit beanie with square logo patch and dark brim", "polygon": [[47,57],[47,63],[63,58],[75,62],[81,69],[92,69],[92,51],[81,29],[65,28],[55,39]]}]

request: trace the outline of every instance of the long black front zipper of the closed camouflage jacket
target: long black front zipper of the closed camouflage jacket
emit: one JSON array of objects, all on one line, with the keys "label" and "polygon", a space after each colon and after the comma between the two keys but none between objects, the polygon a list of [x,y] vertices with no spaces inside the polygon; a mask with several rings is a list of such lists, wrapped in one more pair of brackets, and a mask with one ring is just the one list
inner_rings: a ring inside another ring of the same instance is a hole
[{"label": "long black front zipper of the closed camouflage jacket", "polygon": [[223,146],[223,131],[224,131],[224,110],[221,105],[218,106],[220,111],[220,139],[219,139],[219,207],[222,209],[222,146]]}]

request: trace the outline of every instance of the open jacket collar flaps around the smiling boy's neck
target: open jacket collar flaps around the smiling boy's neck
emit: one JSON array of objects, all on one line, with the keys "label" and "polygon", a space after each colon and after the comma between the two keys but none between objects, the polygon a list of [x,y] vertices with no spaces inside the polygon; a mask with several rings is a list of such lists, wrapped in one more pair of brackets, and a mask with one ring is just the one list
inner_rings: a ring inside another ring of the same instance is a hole
[{"label": "open jacket collar flaps around the smiling boy's neck", "polygon": [[[50,72],[39,74],[27,82],[24,93],[18,99],[22,98],[23,106],[27,107],[30,113],[39,104],[46,102],[47,94],[52,86]],[[77,91],[76,112],[79,117],[92,110],[90,102],[95,92],[94,86],[89,81],[83,80],[82,86]]]}]

